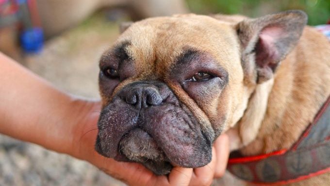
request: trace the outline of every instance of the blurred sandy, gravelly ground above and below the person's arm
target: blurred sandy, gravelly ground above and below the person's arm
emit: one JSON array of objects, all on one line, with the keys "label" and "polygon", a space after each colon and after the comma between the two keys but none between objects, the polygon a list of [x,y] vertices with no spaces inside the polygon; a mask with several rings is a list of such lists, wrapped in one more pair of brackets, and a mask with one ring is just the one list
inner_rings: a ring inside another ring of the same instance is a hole
[{"label": "blurred sandy, gravelly ground above and below the person's arm", "polygon": [[[115,41],[118,25],[98,14],[46,42],[21,62],[57,88],[98,99],[98,61]],[[238,185],[231,176],[214,185]],[[92,165],[34,144],[0,136],[0,186],[123,186]],[[239,184],[240,185],[240,184]]]}]

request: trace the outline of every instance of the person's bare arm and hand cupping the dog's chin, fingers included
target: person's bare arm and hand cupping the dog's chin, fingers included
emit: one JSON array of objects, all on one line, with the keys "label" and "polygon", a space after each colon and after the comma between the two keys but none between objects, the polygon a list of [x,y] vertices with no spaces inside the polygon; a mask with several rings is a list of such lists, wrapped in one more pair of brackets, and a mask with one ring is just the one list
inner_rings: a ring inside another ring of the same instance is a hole
[{"label": "person's bare arm and hand cupping the dog's chin, fingers included", "polygon": [[99,101],[63,93],[0,53],[0,133],[88,161],[128,185],[210,185],[225,172],[226,135],[214,142],[208,165],[174,167],[167,176],[157,176],[138,163],[103,157],[94,150],[99,112]]}]

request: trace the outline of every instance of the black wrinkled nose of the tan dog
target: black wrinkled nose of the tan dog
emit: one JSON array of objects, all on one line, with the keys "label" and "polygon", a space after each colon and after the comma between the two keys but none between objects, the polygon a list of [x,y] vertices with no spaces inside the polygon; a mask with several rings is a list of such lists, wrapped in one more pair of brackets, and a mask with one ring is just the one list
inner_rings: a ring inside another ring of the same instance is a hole
[{"label": "black wrinkled nose of the tan dog", "polygon": [[146,108],[152,105],[160,105],[163,101],[157,88],[152,85],[134,86],[124,95],[128,104],[134,105],[137,109]]}]

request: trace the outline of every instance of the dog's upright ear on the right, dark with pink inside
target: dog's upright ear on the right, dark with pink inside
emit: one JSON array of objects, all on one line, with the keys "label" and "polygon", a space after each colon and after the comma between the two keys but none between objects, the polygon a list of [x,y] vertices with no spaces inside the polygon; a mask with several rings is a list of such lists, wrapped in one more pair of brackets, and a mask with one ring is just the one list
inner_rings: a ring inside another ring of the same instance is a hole
[{"label": "dog's upright ear on the right, dark with pink inside", "polygon": [[296,46],[307,22],[298,10],[281,12],[236,25],[246,78],[262,83],[273,77],[279,63]]}]

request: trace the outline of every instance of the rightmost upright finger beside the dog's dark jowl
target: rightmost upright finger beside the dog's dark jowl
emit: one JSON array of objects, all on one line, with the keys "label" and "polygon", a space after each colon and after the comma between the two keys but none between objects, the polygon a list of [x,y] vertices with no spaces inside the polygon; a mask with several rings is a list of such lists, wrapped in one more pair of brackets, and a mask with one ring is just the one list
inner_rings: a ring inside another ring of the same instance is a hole
[{"label": "rightmost upright finger beside the dog's dark jowl", "polygon": [[229,138],[226,134],[222,134],[214,141],[216,166],[214,170],[214,178],[222,177],[227,168],[229,158]]}]

